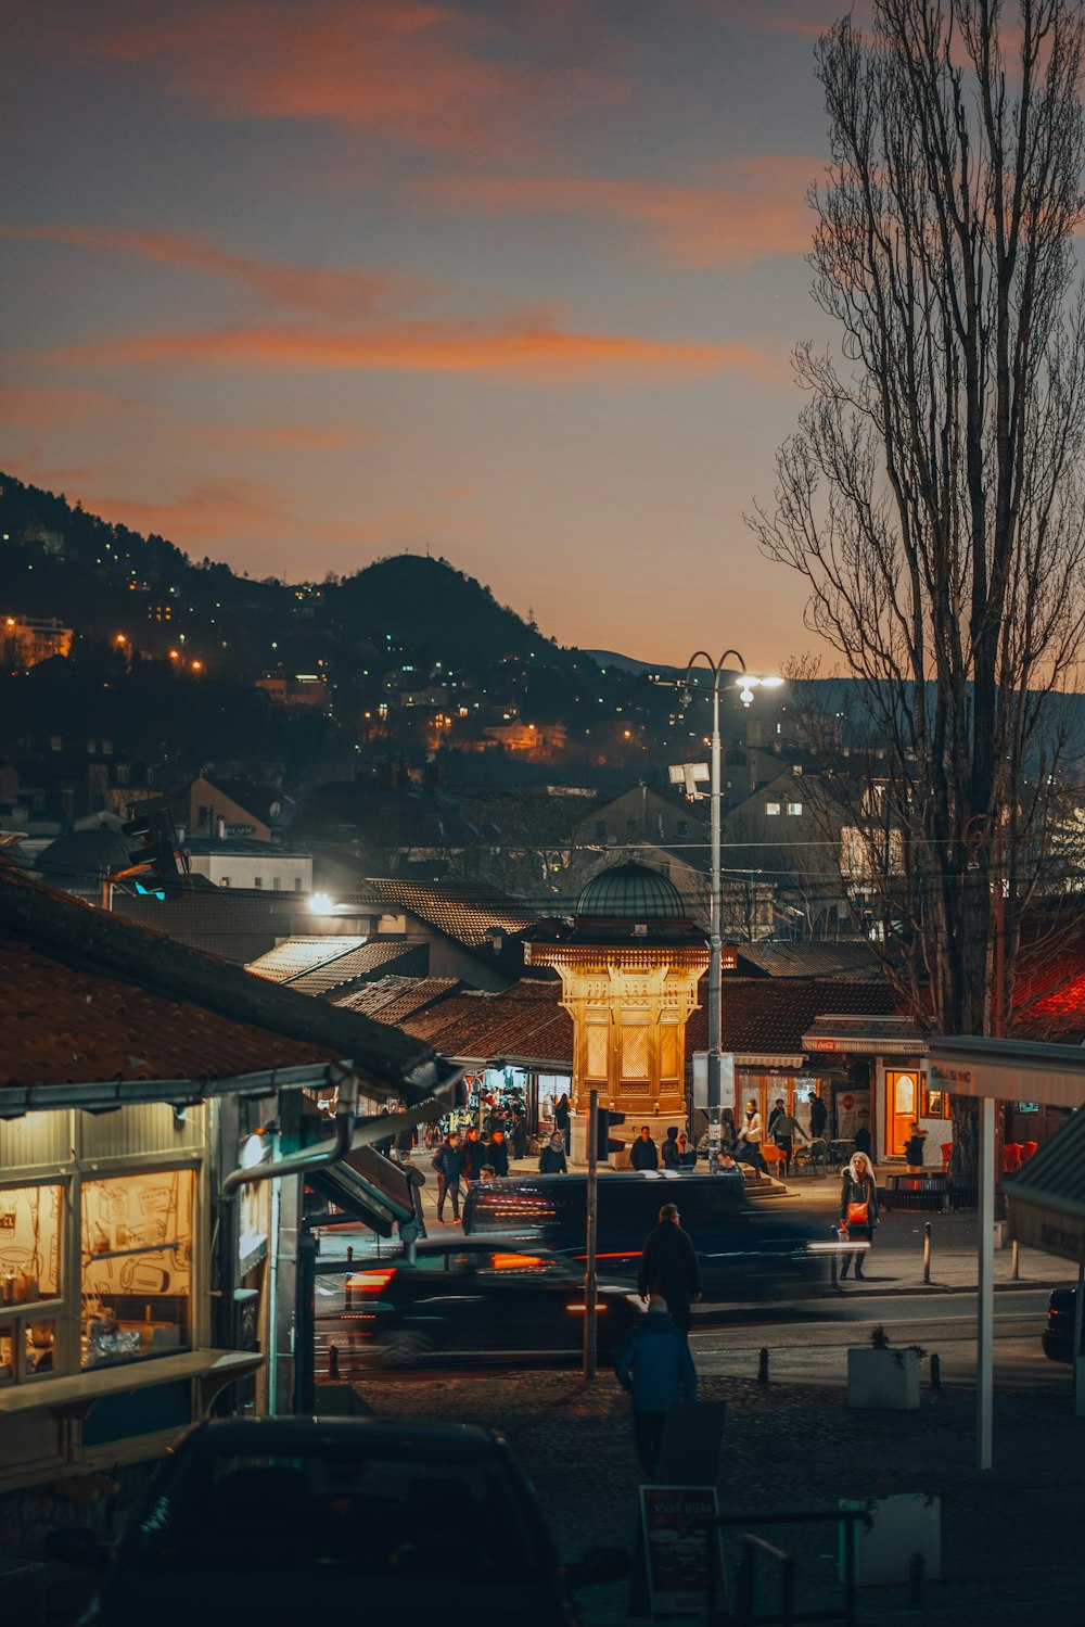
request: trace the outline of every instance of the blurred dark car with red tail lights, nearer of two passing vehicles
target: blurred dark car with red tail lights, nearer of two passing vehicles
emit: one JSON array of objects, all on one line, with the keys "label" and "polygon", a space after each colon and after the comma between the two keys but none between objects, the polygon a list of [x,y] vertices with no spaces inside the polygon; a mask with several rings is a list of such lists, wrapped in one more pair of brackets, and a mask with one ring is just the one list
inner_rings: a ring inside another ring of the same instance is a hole
[{"label": "blurred dark car with red tail lights, nearer of two passing vehicles", "polygon": [[[343,1287],[345,1308],[324,1315],[322,1331],[371,1341],[392,1367],[436,1352],[571,1357],[584,1342],[584,1271],[545,1248],[426,1241],[413,1264],[373,1261]],[[607,1284],[595,1305],[599,1355],[613,1357],[644,1305],[626,1287]]]}]

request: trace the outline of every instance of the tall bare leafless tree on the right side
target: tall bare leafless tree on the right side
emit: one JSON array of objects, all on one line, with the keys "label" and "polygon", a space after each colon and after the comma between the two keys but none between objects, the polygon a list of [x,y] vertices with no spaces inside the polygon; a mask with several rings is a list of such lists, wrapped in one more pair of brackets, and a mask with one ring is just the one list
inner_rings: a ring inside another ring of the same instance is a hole
[{"label": "tall bare leafless tree on the right side", "polygon": [[844,360],[799,348],[810,399],[750,519],[867,680],[854,825],[887,971],[926,1027],[976,1035],[1009,1007],[1085,633],[1083,21],[1077,0],[1004,10],[874,0],[869,37],[844,20],[818,42],[810,264]]}]

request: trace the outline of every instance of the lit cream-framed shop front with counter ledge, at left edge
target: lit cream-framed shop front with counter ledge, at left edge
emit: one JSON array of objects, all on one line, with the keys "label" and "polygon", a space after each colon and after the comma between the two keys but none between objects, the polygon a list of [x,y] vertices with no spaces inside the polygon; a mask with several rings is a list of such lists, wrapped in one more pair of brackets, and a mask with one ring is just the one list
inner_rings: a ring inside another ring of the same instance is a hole
[{"label": "lit cream-framed shop front with counter ledge, at left edge", "polygon": [[0,1487],[150,1456],[260,1365],[210,1339],[207,1116],[0,1121]]}]

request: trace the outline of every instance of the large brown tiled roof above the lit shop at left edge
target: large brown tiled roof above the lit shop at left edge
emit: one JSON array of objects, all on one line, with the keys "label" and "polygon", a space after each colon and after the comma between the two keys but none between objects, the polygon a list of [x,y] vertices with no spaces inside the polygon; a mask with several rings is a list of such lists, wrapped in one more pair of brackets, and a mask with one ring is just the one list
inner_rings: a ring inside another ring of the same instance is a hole
[{"label": "large brown tiled roof above the lit shop at left edge", "polygon": [[7,866],[0,953],[0,1079],[223,1079],[350,1058],[371,1093],[413,1097],[433,1084],[433,1053],[402,1030],[277,988]]}]

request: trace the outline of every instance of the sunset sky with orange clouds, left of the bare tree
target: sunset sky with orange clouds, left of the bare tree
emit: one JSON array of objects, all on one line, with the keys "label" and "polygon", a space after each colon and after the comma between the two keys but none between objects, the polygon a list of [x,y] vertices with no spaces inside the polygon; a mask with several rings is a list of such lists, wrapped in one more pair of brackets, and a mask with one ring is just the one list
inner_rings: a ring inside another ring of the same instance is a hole
[{"label": "sunset sky with orange clouds, left of the bare tree", "polygon": [[0,467],[561,644],[815,648],[771,506],[844,0],[0,0]]}]

